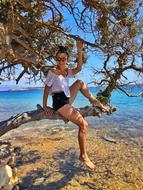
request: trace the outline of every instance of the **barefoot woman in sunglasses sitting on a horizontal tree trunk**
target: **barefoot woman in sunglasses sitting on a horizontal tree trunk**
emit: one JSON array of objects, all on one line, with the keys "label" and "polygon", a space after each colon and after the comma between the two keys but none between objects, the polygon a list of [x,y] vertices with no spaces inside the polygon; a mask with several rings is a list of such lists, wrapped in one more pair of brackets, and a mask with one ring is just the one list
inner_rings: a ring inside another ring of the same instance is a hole
[{"label": "barefoot woman in sunglasses sitting on a horizontal tree trunk", "polygon": [[51,94],[53,98],[53,109],[79,127],[79,158],[85,163],[86,166],[94,169],[95,165],[91,162],[86,152],[88,123],[82,115],[74,107],[72,107],[72,103],[80,90],[81,93],[88,98],[94,106],[99,107],[104,111],[107,111],[107,109],[89,92],[83,81],[77,80],[72,84],[72,86],[68,86],[68,78],[77,74],[82,69],[82,54],[83,42],[77,41],[77,66],[73,69],[67,69],[67,60],[69,55],[65,47],[61,46],[59,48],[56,54],[57,66],[48,72],[47,80],[45,82],[43,110],[48,116],[53,114],[54,111],[52,109],[47,109],[47,98],[48,95]]}]

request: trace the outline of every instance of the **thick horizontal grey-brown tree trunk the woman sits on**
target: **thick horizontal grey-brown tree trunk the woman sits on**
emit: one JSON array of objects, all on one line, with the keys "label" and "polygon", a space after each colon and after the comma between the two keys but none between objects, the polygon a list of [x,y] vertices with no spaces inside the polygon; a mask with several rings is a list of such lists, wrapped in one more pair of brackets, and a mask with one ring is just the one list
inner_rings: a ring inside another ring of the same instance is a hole
[{"label": "thick horizontal grey-brown tree trunk the woman sits on", "polygon": [[[52,109],[48,107],[49,109]],[[79,112],[83,117],[87,116],[101,116],[101,112],[96,109],[95,107],[92,106],[86,106],[84,108],[78,109]],[[111,110],[110,110],[111,111]],[[23,112],[21,114],[17,114],[15,116],[10,117],[8,120],[1,121],[0,122],[0,136],[4,135],[8,131],[18,128],[20,125],[30,122],[30,121],[38,121],[42,119],[52,119],[52,120],[57,120],[61,119],[64,120],[65,122],[68,122],[65,120],[62,116],[60,116],[57,112],[55,112],[52,116],[46,116],[43,112],[42,107],[38,104],[37,105],[37,110],[32,110],[32,111],[27,111]]]}]

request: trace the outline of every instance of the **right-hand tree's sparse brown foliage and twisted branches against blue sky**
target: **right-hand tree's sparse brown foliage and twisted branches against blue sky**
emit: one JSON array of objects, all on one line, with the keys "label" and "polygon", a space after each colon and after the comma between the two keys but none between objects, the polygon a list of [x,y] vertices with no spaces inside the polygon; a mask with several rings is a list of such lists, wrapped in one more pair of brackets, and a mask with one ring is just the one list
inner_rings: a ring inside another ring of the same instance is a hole
[{"label": "right-hand tree's sparse brown foliage and twisted branches against blue sky", "polygon": [[94,74],[101,75],[99,81],[93,79],[93,82],[106,86],[98,97],[108,103],[115,88],[128,95],[123,88],[130,84],[126,72],[135,72],[143,78],[143,2],[83,0],[82,4],[82,10],[71,6],[69,9],[77,26],[97,46],[92,44],[92,51],[104,59],[100,69],[93,66]]}]

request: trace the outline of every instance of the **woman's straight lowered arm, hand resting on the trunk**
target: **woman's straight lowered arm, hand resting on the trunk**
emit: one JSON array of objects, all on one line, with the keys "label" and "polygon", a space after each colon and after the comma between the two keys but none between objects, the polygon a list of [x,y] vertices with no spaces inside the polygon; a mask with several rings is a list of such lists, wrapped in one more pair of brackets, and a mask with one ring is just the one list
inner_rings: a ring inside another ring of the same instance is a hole
[{"label": "woman's straight lowered arm, hand resting on the trunk", "polygon": [[43,94],[43,110],[46,115],[51,116],[54,113],[54,110],[47,108],[48,95],[49,95],[49,87],[45,85],[44,94]]}]

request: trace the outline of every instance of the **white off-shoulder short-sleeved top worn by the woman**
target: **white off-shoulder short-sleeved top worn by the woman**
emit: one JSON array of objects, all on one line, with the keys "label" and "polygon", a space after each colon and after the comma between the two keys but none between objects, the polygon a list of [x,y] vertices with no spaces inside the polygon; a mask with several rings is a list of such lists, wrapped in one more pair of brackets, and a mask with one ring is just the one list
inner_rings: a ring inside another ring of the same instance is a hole
[{"label": "white off-shoulder short-sleeved top worn by the woman", "polygon": [[57,75],[52,71],[48,72],[45,85],[50,87],[49,94],[52,95],[55,92],[63,91],[67,97],[70,97],[69,89],[69,77],[72,76],[72,70],[68,69],[68,75],[66,77],[62,75]]}]

